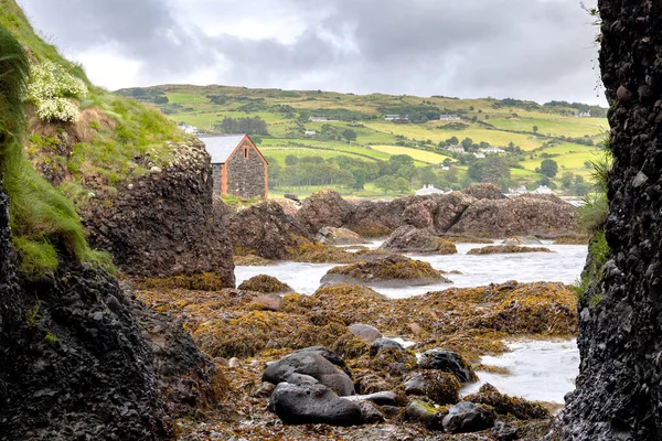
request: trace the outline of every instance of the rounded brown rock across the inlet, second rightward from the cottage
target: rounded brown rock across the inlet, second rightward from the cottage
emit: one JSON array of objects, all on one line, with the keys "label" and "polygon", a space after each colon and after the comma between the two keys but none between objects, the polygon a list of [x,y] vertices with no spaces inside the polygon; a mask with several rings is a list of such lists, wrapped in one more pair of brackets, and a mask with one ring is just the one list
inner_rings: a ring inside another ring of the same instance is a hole
[{"label": "rounded brown rock across the inlet, second rightward from the cottage", "polygon": [[309,234],[316,235],[323,227],[342,227],[350,217],[354,206],[332,190],[323,190],[303,201],[297,213],[297,220]]}]

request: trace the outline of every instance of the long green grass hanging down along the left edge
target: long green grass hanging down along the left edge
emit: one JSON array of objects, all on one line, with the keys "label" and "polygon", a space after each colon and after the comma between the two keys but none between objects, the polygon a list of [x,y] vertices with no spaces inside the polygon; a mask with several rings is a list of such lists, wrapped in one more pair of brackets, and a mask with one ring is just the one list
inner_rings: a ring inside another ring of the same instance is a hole
[{"label": "long green grass hanging down along the left edge", "polygon": [[73,204],[41,178],[24,155],[26,66],[28,55],[20,43],[0,28],[0,171],[9,196],[12,245],[20,257],[20,271],[35,280],[53,273],[63,259],[111,270],[108,255],[89,249]]}]

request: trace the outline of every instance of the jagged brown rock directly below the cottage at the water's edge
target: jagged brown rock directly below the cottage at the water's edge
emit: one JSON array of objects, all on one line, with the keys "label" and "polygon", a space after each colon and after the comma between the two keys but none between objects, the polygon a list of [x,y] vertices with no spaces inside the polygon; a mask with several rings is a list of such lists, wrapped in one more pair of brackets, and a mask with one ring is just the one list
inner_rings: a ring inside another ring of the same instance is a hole
[{"label": "jagged brown rock directly below the cottage at the water's edge", "polygon": [[233,247],[249,250],[265,259],[284,259],[288,247],[306,244],[311,237],[274,201],[232,213],[223,220]]}]

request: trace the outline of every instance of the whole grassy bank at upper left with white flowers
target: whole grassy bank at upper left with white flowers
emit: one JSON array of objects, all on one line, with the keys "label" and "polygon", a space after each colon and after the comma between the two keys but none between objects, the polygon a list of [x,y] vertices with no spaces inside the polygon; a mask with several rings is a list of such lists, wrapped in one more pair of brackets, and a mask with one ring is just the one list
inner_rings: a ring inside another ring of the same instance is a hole
[{"label": "whole grassy bank at upper left with white flowers", "polygon": [[184,135],[158,109],[92,85],[14,0],[0,0],[0,175],[21,271],[35,279],[71,259],[110,269],[77,209],[90,197],[113,204],[120,182],[149,172],[138,159],[168,163],[169,141]]}]

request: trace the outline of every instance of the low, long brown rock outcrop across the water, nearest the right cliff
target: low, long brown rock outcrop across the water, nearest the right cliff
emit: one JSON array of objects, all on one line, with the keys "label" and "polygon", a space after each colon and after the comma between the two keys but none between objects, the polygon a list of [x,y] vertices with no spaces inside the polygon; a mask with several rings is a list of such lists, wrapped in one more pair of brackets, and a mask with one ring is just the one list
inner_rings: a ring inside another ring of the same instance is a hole
[{"label": "low, long brown rock outcrop across the water, nearest the right cliff", "polygon": [[576,229],[576,208],[570,204],[556,196],[523,195],[477,201],[462,213],[448,233],[498,238],[567,234]]}]

